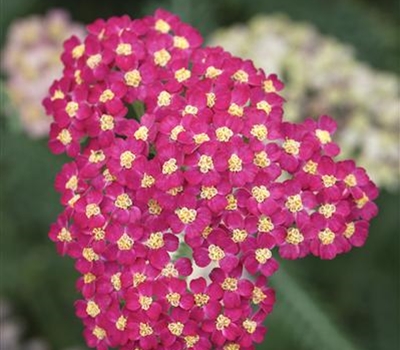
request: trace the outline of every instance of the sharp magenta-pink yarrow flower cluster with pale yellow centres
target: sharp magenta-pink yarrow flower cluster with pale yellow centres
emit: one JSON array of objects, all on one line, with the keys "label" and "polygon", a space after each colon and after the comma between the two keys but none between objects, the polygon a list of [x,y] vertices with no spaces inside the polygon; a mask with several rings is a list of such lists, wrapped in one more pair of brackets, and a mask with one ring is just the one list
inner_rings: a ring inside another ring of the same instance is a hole
[{"label": "sharp magenta-pink yarrow flower cluster with pale yellow centres", "polygon": [[[82,275],[88,345],[254,349],[274,304],[272,250],[332,259],[363,245],[377,188],[333,159],[332,119],[282,121],[282,82],[201,48],[177,16],[88,32],[65,42],[44,101],[51,150],[73,158],[50,237]],[[193,268],[211,272],[189,279]]]}]

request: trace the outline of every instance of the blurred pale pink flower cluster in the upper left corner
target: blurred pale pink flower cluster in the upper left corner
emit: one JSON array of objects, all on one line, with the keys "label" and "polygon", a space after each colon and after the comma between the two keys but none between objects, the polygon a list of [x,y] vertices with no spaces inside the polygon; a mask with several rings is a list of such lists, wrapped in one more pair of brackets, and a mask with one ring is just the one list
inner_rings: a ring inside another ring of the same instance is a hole
[{"label": "blurred pale pink flower cluster in the upper left corner", "polygon": [[7,76],[9,99],[6,114],[20,117],[20,125],[33,138],[47,136],[51,119],[42,100],[49,85],[62,72],[62,44],[71,35],[84,36],[84,27],[72,23],[63,10],[45,16],[30,16],[13,22],[2,52],[2,70]]}]

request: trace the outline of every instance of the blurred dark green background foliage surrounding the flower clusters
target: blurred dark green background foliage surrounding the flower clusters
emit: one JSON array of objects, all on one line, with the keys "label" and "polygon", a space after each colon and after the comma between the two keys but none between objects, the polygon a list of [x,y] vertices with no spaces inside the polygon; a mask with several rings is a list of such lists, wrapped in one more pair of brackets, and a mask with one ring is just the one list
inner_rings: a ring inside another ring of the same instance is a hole
[{"label": "blurred dark green background foliage surrounding the flower clusters", "polygon": [[[112,15],[141,17],[164,7],[205,37],[260,13],[284,13],[352,45],[359,60],[400,73],[397,0],[13,0],[2,1],[1,7],[1,47],[15,19],[50,8],[64,8],[74,21],[90,23]],[[3,107],[7,100],[1,90]],[[48,349],[83,347],[73,309],[78,297],[73,262],[57,256],[47,238],[50,223],[61,211],[54,177],[66,159],[51,155],[46,140],[16,132],[1,110],[0,296],[23,320],[23,338],[40,337]],[[278,302],[258,349],[399,348],[399,191],[382,189],[378,205],[380,214],[363,249],[333,261],[309,257],[282,262],[271,279]],[[3,327],[6,321],[1,322]]]}]

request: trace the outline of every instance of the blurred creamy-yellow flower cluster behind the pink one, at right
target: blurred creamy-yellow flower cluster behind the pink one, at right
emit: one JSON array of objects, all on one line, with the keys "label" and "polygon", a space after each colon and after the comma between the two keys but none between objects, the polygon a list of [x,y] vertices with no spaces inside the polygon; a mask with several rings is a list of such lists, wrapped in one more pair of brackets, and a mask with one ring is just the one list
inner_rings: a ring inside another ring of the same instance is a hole
[{"label": "blurred creamy-yellow flower cluster behind the pink one, at right", "polygon": [[342,156],[355,158],[371,178],[399,186],[399,81],[358,61],[352,47],[284,15],[254,18],[212,35],[210,44],[249,58],[286,87],[286,118],[334,117]]}]

